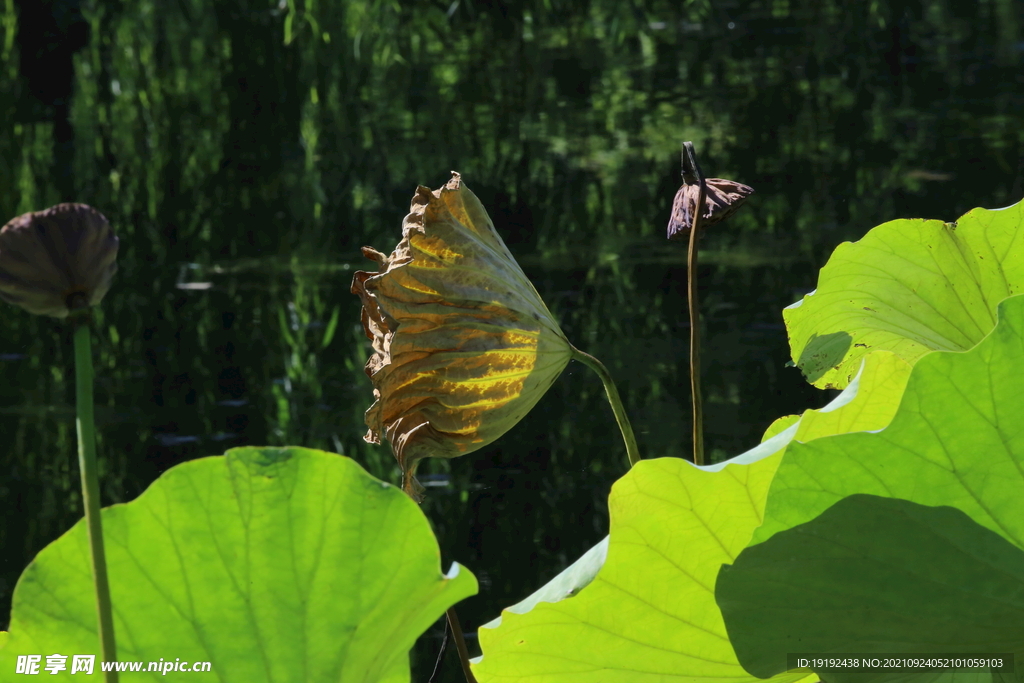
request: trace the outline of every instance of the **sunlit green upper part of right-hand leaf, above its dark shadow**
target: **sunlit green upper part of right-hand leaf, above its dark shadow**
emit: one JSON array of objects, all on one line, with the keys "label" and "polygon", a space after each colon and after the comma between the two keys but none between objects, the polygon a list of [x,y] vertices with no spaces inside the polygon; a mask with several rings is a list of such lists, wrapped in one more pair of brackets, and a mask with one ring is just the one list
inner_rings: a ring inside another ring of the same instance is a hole
[{"label": "sunlit green upper part of right-hand leaf, above its dark shadow", "polygon": [[998,310],[970,351],[918,361],[885,429],[792,443],[752,543],[871,494],[956,507],[1024,548],[1024,297]]}]

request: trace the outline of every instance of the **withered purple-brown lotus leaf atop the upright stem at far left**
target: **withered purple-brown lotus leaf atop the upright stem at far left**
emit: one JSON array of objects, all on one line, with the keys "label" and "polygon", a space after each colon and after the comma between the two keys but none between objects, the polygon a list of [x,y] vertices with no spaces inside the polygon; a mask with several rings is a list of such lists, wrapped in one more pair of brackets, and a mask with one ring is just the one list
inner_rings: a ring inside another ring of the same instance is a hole
[{"label": "withered purple-brown lotus leaf atop the upright stem at far left", "polygon": [[0,228],[0,299],[36,315],[95,306],[118,269],[118,238],[85,204],[58,204]]}]

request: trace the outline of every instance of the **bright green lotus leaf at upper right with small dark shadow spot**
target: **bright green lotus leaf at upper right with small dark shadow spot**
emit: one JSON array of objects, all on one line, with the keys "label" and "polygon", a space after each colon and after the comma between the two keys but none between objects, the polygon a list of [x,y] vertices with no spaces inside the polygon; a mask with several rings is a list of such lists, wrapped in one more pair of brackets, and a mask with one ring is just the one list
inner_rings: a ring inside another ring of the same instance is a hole
[{"label": "bright green lotus leaf at upper right with small dark shadow spot", "polygon": [[844,243],[817,289],[783,311],[794,361],[817,387],[843,388],[873,350],[910,365],[962,351],[1024,292],[1024,203],[975,209],[955,223],[894,220]]}]

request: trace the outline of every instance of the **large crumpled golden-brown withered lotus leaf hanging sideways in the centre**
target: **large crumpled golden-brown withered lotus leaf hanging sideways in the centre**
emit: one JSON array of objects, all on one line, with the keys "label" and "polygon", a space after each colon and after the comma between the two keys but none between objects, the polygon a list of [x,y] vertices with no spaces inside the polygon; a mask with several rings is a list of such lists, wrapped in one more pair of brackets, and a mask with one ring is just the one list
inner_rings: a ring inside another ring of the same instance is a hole
[{"label": "large crumpled golden-brown withered lotus leaf hanging sideways in the centre", "polygon": [[458,173],[420,186],[390,256],[352,293],[373,342],[375,401],[366,440],[388,440],[418,498],[423,458],[456,458],[498,439],[561,374],[571,347]]}]

